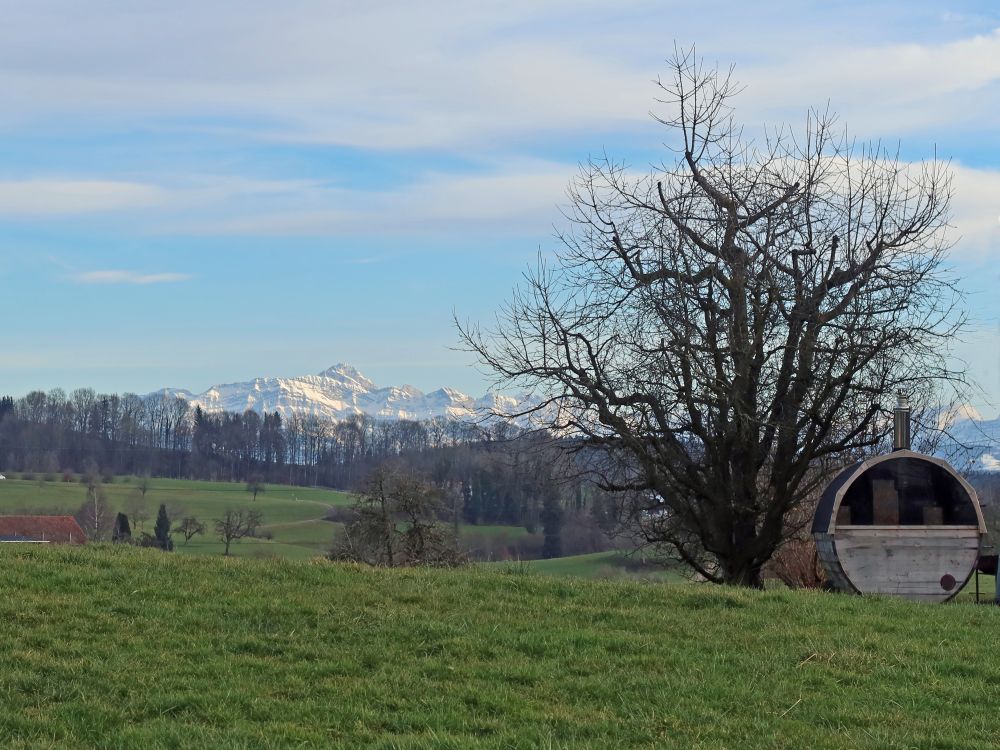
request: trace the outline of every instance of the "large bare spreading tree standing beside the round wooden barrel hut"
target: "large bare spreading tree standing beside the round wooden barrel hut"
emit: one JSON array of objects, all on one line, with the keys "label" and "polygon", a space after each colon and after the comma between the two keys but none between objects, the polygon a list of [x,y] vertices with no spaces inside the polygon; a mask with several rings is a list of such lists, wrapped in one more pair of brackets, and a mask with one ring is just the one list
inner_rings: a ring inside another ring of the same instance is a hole
[{"label": "large bare spreading tree standing beside the round wooden barrel hut", "polygon": [[664,164],[585,167],[555,261],[494,328],[459,328],[498,387],[542,396],[520,416],[599,448],[591,467],[645,542],[760,586],[789,512],[884,440],[895,392],[928,404],[964,382],[950,176],[824,112],[752,140],[729,74],[693,51],[671,74]]}]

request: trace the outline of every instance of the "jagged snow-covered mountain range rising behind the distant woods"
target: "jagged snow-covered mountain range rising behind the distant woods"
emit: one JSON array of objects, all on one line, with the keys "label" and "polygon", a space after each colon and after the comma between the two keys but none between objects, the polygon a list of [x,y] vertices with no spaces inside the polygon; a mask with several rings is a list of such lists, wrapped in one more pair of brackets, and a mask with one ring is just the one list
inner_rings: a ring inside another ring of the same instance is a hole
[{"label": "jagged snow-covered mountain range rising behind the distant woods", "polygon": [[[318,375],[295,378],[256,378],[244,383],[215,385],[204,393],[164,388],[155,395],[183,398],[192,408],[207,412],[278,412],[282,417],[312,414],[342,420],[352,414],[380,419],[470,419],[494,408],[513,409],[524,399],[487,394],[482,398],[439,388],[423,393],[412,385],[380,388],[347,364],[337,364]],[[527,397],[525,397],[527,398]]]}]

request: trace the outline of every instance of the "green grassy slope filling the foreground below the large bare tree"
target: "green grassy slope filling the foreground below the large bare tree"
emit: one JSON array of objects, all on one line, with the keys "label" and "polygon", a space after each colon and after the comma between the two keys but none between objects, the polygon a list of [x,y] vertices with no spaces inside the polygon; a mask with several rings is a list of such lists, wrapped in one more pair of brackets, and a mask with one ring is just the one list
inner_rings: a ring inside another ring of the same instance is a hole
[{"label": "green grassy slope filling the foreground below the large bare tree", "polygon": [[0,545],[0,746],[982,748],[1000,610]]}]

